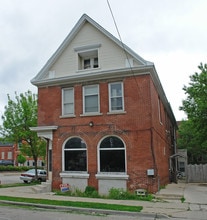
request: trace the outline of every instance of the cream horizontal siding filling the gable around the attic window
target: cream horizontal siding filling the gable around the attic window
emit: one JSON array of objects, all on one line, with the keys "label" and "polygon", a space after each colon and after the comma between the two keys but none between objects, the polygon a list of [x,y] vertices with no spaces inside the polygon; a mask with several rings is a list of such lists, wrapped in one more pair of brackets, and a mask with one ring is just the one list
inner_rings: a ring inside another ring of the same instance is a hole
[{"label": "cream horizontal siding filling the gable around the attic window", "polygon": [[[78,74],[78,57],[74,48],[101,44],[99,48],[99,64],[100,68],[96,71],[120,69],[126,67],[126,54],[122,48],[111,41],[108,37],[94,28],[88,22],[81,28],[70,45],[60,55],[56,63],[51,67],[50,71],[54,71],[54,77],[63,77],[71,74]],[[132,57],[128,55],[128,58]],[[133,63],[134,66],[140,65]],[[81,74],[81,73],[80,73]]]}]

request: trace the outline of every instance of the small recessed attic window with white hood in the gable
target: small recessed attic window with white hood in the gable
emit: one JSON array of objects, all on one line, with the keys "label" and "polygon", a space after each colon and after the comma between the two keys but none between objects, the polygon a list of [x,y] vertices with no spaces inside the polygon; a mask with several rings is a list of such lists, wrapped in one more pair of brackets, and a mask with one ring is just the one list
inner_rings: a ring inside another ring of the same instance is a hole
[{"label": "small recessed attic window with white hood in the gable", "polygon": [[100,44],[89,45],[75,48],[78,54],[78,70],[96,69],[99,64],[99,47]]}]

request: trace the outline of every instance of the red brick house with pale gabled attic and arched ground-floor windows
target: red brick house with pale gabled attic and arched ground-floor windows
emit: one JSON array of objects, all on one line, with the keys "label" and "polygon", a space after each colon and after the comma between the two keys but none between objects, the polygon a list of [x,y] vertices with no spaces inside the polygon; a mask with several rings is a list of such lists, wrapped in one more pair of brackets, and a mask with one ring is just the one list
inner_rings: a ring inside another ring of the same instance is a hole
[{"label": "red brick house with pale gabled attic and arched ground-floor windows", "polygon": [[177,125],[153,63],[84,14],[31,82],[53,189],[169,183]]}]

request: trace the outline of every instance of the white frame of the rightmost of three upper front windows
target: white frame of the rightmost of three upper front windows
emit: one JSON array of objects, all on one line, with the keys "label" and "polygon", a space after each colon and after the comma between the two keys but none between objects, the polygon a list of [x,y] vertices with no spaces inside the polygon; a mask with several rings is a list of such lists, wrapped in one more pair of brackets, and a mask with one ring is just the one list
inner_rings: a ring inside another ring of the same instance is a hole
[{"label": "white frame of the rightmost of three upper front windows", "polygon": [[[116,85],[116,84],[120,84],[121,85],[121,95],[119,94],[111,94],[111,86],[112,85]],[[109,90],[109,112],[123,112],[124,111],[124,87],[123,87],[123,82],[113,82],[113,83],[109,83],[108,85],[108,90]],[[122,109],[112,109],[112,98],[121,98],[122,99]]]}]

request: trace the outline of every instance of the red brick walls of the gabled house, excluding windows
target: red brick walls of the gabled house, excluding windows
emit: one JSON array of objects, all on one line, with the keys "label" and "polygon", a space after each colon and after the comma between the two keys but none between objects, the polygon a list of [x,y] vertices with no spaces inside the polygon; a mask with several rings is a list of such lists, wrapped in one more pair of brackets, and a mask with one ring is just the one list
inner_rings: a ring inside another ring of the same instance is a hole
[{"label": "red brick walls of the gabled house, excluding windows", "polygon": [[[61,87],[39,88],[38,124],[39,126],[57,125],[53,138],[53,188],[61,183],[62,147],[66,139],[79,136],[87,145],[88,185],[98,188],[97,146],[106,135],[120,137],[126,144],[127,174],[129,190],[147,188],[151,192],[158,190],[158,184],[169,182],[169,156],[174,152],[173,125],[161,103],[159,118],[159,96],[150,75],[127,77],[123,79],[125,114],[107,114],[108,82],[100,81],[100,116],[81,116],[83,98],[82,85],[74,86],[75,115],[73,118],[61,118]],[[94,126],[90,127],[89,122]],[[147,176],[147,170],[154,169],[153,177]]]}]

